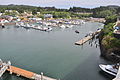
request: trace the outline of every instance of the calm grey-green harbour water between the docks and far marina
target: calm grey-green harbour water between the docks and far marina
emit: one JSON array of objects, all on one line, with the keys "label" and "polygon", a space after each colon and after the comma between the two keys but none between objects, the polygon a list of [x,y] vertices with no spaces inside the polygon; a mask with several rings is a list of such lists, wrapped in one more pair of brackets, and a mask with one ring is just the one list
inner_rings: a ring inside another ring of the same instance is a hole
[{"label": "calm grey-green harbour water between the docks and far marina", "polygon": [[[87,42],[74,45],[89,31],[102,27],[101,23],[86,23],[72,29],[54,28],[52,32],[26,30],[7,26],[0,29],[0,58],[12,65],[61,80],[110,80],[99,69],[100,49]],[[80,34],[76,34],[79,30]],[[27,80],[5,73],[1,80]]]}]

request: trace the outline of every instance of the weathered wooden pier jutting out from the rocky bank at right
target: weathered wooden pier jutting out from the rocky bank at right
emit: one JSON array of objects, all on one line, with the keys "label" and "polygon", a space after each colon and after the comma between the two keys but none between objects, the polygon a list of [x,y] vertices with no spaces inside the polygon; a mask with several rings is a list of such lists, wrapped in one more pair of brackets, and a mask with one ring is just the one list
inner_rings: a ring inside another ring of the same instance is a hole
[{"label": "weathered wooden pier jutting out from the rocky bank at right", "polygon": [[87,37],[84,37],[83,39],[75,42],[75,45],[83,45],[85,42],[91,40],[95,35],[97,35],[100,32],[101,32],[101,29],[97,30],[96,32],[93,32],[92,35],[88,35]]}]

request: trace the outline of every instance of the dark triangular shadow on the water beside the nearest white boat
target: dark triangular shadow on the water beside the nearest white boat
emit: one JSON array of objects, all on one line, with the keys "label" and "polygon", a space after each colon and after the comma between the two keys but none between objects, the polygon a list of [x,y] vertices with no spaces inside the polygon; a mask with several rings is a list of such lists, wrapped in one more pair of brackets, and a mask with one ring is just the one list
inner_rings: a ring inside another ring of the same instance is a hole
[{"label": "dark triangular shadow on the water beside the nearest white boat", "polygon": [[107,63],[107,61],[101,59],[100,56],[98,56],[99,59],[98,57],[95,58],[94,54],[96,53],[93,52],[89,58],[79,63],[76,68],[61,80],[112,80],[114,76],[105,73],[98,66],[100,63]]}]

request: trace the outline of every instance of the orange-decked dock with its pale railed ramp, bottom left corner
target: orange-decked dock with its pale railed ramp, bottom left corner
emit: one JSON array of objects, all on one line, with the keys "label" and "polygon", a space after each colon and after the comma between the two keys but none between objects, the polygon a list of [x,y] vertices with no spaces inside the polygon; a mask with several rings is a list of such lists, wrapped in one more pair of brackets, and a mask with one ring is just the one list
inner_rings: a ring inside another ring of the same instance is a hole
[{"label": "orange-decked dock with its pale railed ramp, bottom left corner", "polygon": [[30,72],[15,66],[11,65],[11,62],[3,62],[0,59],[0,77],[5,73],[5,71],[10,72],[10,74],[16,74],[17,76],[22,76],[28,79],[33,79],[33,80],[57,80],[51,77],[44,76],[43,73],[37,74],[34,72]]}]

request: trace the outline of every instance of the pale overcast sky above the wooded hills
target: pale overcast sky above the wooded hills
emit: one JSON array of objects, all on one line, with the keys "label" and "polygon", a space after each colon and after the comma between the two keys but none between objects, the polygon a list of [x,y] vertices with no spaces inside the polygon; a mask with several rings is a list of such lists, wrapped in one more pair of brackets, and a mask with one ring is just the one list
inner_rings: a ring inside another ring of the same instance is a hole
[{"label": "pale overcast sky above the wooded hills", "polygon": [[57,8],[69,8],[72,6],[93,8],[93,7],[106,6],[106,5],[120,6],[120,0],[0,0],[0,4],[55,6]]}]

